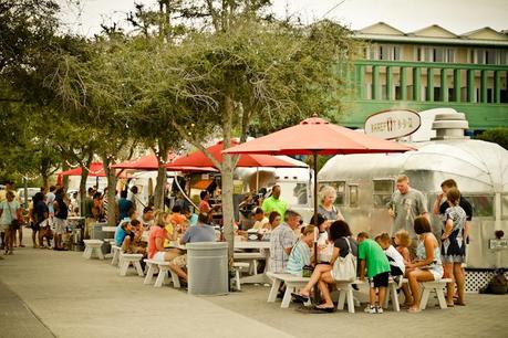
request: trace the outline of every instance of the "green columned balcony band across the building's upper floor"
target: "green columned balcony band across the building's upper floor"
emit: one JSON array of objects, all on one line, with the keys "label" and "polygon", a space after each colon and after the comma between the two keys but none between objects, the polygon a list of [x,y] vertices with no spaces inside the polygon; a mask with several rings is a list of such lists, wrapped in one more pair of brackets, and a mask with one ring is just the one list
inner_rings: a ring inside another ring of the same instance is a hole
[{"label": "green columned balcony band across the building's upper floor", "polygon": [[[409,72],[411,83],[408,78]],[[397,74],[397,83],[394,81],[394,73]],[[366,95],[365,92],[366,74],[372,76],[372,95]],[[438,85],[435,84],[436,75],[439,78]],[[463,86],[464,75],[465,86]],[[506,65],[356,61],[354,63],[354,72],[349,72],[348,77],[348,82],[352,84],[357,99],[508,103],[506,84],[508,66]],[[383,83],[382,77],[384,77]],[[453,77],[452,86],[448,84],[449,77]],[[504,83],[501,83],[501,80],[504,80]],[[384,89],[383,85],[385,86]],[[422,86],[426,86],[425,92],[422,91]],[[398,92],[395,91],[395,87],[398,87]],[[465,88],[464,94],[463,88]],[[479,89],[478,95],[477,89]]]}]

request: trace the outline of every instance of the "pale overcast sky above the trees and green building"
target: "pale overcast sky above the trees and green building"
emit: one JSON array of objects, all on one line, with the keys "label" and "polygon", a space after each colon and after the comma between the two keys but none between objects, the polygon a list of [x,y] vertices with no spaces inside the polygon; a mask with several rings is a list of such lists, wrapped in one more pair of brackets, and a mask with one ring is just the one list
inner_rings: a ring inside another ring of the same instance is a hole
[{"label": "pale overcast sky above the trees and green building", "polygon": [[[102,22],[125,19],[133,0],[58,0],[64,27],[93,35]],[[74,3],[74,4],[70,4]],[[155,0],[136,0],[153,4]],[[353,29],[383,21],[403,32],[438,24],[456,34],[490,27],[508,30],[508,0],[273,0],[279,17],[300,15],[304,22],[333,19]],[[75,4],[77,3],[77,6]],[[79,13],[81,13],[79,15]]]}]

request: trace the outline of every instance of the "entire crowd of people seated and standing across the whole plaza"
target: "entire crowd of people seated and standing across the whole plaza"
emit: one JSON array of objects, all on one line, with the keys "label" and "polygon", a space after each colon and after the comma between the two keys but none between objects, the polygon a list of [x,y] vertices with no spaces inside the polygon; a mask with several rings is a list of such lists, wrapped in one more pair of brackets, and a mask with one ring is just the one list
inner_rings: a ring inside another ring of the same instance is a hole
[{"label": "entire crowd of people seated and standing across the whole plaza", "polygon": [[[440,188],[443,192],[436,196],[432,210],[443,222],[437,237],[431,226],[425,198],[409,186],[406,176],[397,178],[396,190],[387,204],[393,229],[374,240],[365,232],[353,236],[350,225],[334,204],[336,191],[332,187],[321,189],[318,218],[303,224],[300,214],[288,209],[280,197],[281,188],[276,184],[271,196],[260,200],[259,207],[251,212],[251,229],[270,234],[269,271],[294,275],[312,271],[308,285],[296,296],[307,299],[317,285],[322,299],[317,309],[333,309],[330,291],[339,278],[334,275],[334,264],[350,254],[359,261],[359,279],[369,279],[371,291],[366,313],[383,311],[390,277],[402,287],[409,311],[419,310],[418,283],[443,277],[454,281],[447,285],[448,306],[465,305],[463,263],[473,209],[460,196],[454,180],[444,181]],[[106,193],[89,189],[82,212],[86,224],[107,220],[112,205],[107,205]],[[187,256],[182,245],[219,240],[210,225],[216,208],[208,202],[209,193],[203,191],[200,194],[201,202],[196,214],[180,203],[175,203],[172,212],[155,211],[152,207],[139,208],[136,193],[133,189],[121,191],[114,205],[113,214],[118,222],[116,245],[126,253],[142,253],[151,260],[169,262],[169,267],[186,282]],[[29,208],[33,247],[65,250],[66,219],[79,211],[79,205],[76,196],[69,198],[62,187],[41,189]],[[17,243],[23,246],[19,231],[23,216],[21,211],[19,197],[12,182],[8,182],[7,189],[0,192],[0,231],[4,254],[12,254]],[[236,228],[236,234],[245,236],[246,232]],[[407,284],[402,283],[403,277],[407,278]],[[454,303],[455,284],[458,297]]]}]

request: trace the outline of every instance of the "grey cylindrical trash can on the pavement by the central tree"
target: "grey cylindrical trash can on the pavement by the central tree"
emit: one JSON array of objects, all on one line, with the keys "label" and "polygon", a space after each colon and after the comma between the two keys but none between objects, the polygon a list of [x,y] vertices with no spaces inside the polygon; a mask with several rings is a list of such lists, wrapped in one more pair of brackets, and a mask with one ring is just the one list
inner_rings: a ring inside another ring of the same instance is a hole
[{"label": "grey cylindrical trash can on the pavement by the central tree", "polygon": [[228,243],[187,243],[188,293],[225,295],[228,293]]}]

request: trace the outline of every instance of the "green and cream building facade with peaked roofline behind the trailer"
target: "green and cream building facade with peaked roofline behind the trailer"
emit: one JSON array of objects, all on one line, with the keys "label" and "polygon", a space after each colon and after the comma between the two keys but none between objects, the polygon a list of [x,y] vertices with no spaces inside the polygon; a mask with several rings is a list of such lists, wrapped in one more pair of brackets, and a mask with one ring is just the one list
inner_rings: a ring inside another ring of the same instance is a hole
[{"label": "green and cream building facade with peaked roofline behind the trailer", "polygon": [[371,114],[452,107],[473,130],[508,126],[508,34],[490,28],[462,35],[431,25],[404,33],[380,22],[355,32],[364,42],[344,72],[349,99],[341,123],[362,128]]}]

